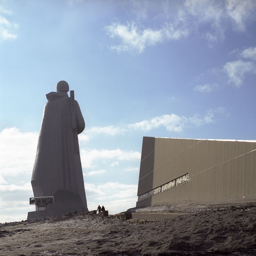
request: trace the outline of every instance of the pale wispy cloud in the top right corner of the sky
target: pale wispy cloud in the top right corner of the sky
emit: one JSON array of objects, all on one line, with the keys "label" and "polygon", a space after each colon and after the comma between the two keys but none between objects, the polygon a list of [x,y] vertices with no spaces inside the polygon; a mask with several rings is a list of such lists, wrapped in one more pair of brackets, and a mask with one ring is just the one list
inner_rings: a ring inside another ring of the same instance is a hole
[{"label": "pale wispy cloud in the top right corner of the sky", "polygon": [[255,19],[255,0],[226,0],[226,8],[236,30],[245,31],[246,21]]}]

